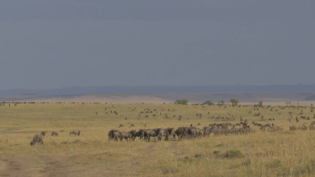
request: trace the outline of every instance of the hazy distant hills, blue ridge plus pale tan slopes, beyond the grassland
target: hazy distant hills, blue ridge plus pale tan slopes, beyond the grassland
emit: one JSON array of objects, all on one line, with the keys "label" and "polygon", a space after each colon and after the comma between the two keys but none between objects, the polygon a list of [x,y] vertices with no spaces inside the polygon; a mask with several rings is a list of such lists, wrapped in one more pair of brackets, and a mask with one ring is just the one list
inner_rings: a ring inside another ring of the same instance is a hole
[{"label": "hazy distant hills, blue ridge plus pale tan slopes, beyond the grassland", "polygon": [[[85,97],[90,95],[90,97]],[[134,97],[137,96],[137,97]],[[142,96],[142,97],[141,97]],[[64,87],[61,89],[10,89],[0,90],[0,101],[15,100],[80,100],[93,98],[100,102],[156,103],[173,102],[176,99],[188,99],[189,102],[204,102],[231,98],[241,102],[259,101],[312,101],[315,100],[315,85],[273,85],[273,86],[97,86],[97,87]],[[115,98],[115,99],[114,99]],[[153,101],[153,98],[155,101]]]}]

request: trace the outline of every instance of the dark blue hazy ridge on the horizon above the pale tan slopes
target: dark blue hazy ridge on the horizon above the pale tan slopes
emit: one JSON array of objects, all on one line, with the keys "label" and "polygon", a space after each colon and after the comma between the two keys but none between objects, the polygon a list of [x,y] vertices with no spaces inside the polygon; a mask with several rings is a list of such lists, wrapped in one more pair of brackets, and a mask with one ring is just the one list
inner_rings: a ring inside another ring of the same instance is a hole
[{"label": "dark blue hazy ridge on the horizon above the pale tan slopes", "polygon": [[0,96],[15,95],[63,96],[101,93],[169,94],[207,92],[315,92],[315,84],[268,86],[91,86],[63,87],[60,89],[8,89],[0,90]]}]

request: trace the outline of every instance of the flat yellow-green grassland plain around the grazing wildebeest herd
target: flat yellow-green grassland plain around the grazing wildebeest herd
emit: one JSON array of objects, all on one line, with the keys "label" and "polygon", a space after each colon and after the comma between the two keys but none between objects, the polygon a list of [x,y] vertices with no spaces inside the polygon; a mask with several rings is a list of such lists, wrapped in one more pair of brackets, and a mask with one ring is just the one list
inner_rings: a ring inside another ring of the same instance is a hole
[{"label": "flat yellow-green grassland plain around the grazing wildebeest herd", "polygon": [[[0,106],[0,176],[314,177],[315,131],[289,131],[291,125],[309,126],[315,120],[310,105],[299,109],[275,106],[273,111],[266,105],[264,107],[257,111],[252,105],[227,105],[224,108],[217,105],[68,103],[17,106],[11,103],[9,106],[6,103]],[[147,108],[157,111],[146,114]],[[302,110],[303,116],[311,120],[295,121]],[[144,114],[139,115],[141,111]],[[258,112],[264,120],[254,116]],[[202,114],[202,118],[196,114]],[[180,115],[181,121],[178,120]],[[230,119],[212,118],[219,116]],[[107,136],[111,129],[177,128],[190,124],[197,126],[198,123],[201,125],[197,127],[202,129],[215,122],[239,123],[241,117],[248,119],[253,133],[211,134],[210,137],[184,138],[182,141],[176,137],[176,141],[168,142],[139,139],[109,142]],[[282,126],[284,131],[262,132],[252,125],[252,121],[274,123]],[[120,124],[124,127],[119,128]],[[130,127],[131,124],[135,126]],[[81,135],[70,136],[69,132],[73,130],[80,130]],[[30,146],[34,134],[41,131],[47,132],[44,145]],[[58,132],[59,136],[52,137],[52,131]]]}]

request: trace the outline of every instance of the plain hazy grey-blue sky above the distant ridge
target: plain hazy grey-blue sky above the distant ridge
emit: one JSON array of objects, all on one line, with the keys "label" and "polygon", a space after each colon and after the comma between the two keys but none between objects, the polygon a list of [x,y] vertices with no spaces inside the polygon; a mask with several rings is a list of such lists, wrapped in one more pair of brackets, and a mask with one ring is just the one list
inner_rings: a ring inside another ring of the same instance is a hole
[{"label": "plain hazy grey-blue sky above the distant ridge", "polygon": [[315,0],[1,0],[0,89],[315,84]]}]

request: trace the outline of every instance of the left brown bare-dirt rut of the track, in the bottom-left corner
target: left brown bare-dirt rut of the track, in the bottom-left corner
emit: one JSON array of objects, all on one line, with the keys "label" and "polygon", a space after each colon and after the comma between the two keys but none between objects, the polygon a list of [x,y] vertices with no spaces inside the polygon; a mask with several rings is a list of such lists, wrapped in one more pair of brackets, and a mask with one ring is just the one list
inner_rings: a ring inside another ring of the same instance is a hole
[{"label": "left brown bare-dirt rut of the track, in the bottom-left corner", "polygon": [[27,177],[30,172],[31,160],[27,157],[8,157],[2,161],[6,166],[0,171],[1,177]]}]

